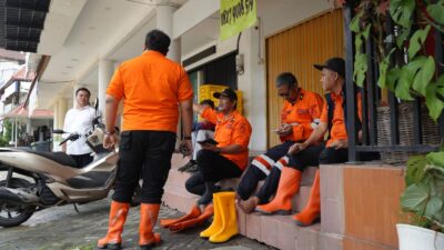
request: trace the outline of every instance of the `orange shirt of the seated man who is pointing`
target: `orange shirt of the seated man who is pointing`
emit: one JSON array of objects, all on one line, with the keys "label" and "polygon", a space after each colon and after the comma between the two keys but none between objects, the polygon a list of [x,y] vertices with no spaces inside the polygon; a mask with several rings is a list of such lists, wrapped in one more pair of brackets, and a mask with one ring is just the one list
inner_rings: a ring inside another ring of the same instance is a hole
[{"label": "orange shirt of the seated man who is pointing", "polygon": [[206,108],[202,112],[202,118],[215,124],[214,140],[219,142],[218,147],[240,144],[246,149],[239,153],[222,153],[223,157],[233,161],[243,171],[249,160],[250,122],[238,111],[234,111],[230,118],[225,119],[222,113],[211,108]]}]

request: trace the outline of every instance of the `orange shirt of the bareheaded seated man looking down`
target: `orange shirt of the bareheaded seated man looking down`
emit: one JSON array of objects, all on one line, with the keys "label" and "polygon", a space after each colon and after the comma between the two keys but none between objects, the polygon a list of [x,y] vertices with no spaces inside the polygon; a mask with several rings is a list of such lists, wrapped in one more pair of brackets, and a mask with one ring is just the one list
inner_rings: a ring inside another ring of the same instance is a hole
[{"label": "orange shirt of the bareheaded seated man looking down", "polygon": [[320,94],[300,89],[300,94],[294,104],[284,101],[281,110],[282,123],[299,123],[293,126],[293,133],[281,137],[281,141],[304,141],[313,131],[312,122],[321,118],[323,99]]}]

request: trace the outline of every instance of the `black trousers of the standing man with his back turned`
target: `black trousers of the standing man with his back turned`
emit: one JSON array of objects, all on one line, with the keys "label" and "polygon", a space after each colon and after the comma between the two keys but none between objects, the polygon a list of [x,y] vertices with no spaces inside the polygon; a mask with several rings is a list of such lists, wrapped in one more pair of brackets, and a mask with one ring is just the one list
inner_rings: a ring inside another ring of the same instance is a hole
[{"label": "black trousers of the standing man with his back turned", "polygon": [[142,203],[161,203],[171,169],[175,133],[168,131],[124,131],[119,146],[118,173],[112,199],[131,201],[142,177]]}]

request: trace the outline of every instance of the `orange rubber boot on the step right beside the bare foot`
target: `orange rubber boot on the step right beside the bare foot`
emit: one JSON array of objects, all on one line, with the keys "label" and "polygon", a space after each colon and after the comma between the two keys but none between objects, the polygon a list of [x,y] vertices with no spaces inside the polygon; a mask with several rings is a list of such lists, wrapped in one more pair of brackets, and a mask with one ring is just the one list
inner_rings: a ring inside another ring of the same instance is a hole
[{"label": "orange rubber boot on the step right beside the bare foot", "polygon": [[270,203],[258,206],[256,209],[263,213],[290,214],[292,198],[299,191],[301,179],[301,171],[283,167],[274,199]]}]

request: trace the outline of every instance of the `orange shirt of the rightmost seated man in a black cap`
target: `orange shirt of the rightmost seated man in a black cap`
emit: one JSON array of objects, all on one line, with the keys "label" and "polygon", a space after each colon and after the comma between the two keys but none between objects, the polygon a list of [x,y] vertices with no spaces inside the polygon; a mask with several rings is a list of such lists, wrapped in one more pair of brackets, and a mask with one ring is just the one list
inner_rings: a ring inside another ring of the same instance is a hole
[{"label": "orange shirt of the rightmost seated man in a black cap", "polygon": [[[330,140],[326,142],[326,147],[331,147],[333,141],[335,140],[347,140],[346,133],[346,124],[344,119],[344,109],[342,103],[344,102],[344,97],[341,94],[335,94],[332,92],[331,94],[332,101],[334,102],[334,112],[333,112],[333,121],[332,129],[330,130]],[[362,120],[362,101],[361,94],[357,97],[357,116],[360,120]],[[326,101],[324,102],[324,108],[322,108],[321,122],[329,123],[329,108]]]}]

